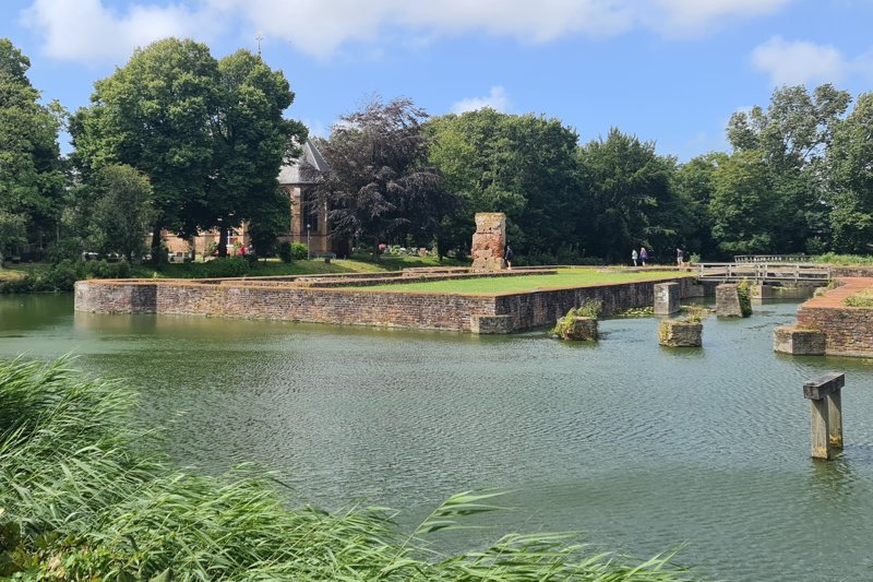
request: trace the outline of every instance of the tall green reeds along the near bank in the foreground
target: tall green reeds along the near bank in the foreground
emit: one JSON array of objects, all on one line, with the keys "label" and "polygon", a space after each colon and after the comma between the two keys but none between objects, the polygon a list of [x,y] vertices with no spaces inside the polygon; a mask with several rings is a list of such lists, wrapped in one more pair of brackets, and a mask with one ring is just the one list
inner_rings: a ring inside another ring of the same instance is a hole
[{"label": "tall green reeds along the near bank in the foreground", "polygon": [[0,578],[691,580],[671,555],[591,554],[565,534],[513,534],[445,556],[430,534],[493,511],[493,494],[458,494],[404,533],[384,509],[288,508],[251,468],[180,471],[156,442],[122,383],[86,379],[64,359],[0,363]]}]

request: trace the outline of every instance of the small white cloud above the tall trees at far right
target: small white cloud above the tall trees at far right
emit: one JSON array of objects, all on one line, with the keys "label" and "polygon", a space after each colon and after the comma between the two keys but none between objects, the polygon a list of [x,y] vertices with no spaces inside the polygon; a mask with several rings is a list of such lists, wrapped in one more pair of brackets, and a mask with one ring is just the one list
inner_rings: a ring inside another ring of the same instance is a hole
[{"label": "small white cloud above the tall trees at far right", "polygon": [[779,36],[755,47],[752,63],[770,75],[773,85],[837,82],[852,68],[833,46],[787,41]]}]

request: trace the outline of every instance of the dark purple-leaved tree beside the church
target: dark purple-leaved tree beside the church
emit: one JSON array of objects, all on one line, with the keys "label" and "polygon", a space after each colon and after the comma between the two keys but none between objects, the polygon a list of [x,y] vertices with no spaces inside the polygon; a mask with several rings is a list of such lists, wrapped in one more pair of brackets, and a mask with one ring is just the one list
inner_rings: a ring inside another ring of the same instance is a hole
[{"label": "dark purple-leaved tree beside the church", "polygon": [[373,99],[340,118],[321,149],[327,171],[315,186],[331,209],[333,236],[379,244],[400,233],[433,236],[452,197],[428,164],[427,114],[410,99]]}]

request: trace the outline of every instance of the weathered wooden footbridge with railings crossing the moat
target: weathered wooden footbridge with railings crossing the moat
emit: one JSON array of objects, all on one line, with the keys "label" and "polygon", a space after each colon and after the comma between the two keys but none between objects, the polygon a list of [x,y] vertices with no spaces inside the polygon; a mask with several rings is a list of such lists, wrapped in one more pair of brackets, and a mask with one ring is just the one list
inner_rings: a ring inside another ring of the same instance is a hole
[{"label": "weathered wooden footbridge with railings crossing the moat", "polygon": [[826,285],[830,266],[800,262],[696,263],[699,281],[738,283],[785,283],[790,285]]}]

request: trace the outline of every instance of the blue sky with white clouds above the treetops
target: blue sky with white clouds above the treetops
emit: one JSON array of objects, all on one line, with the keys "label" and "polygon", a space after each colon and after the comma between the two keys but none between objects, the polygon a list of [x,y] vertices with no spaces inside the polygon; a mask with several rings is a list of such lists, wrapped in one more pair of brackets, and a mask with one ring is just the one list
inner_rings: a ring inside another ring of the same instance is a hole
[{"label": "blue sky with white clouds above the treetops", "polygon": [[[258,50],[326,136],[374,95],[430,115],[490,106],[617,127],[687,161],[727,150],[731,114],[774,87],[873,90],[873,0],[0,0],[0,37],[45,100],[86,106],[137,46]],[[69,152],[63,138],[61,147]]]}]

